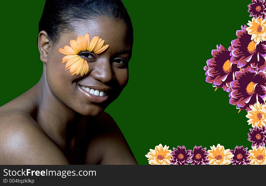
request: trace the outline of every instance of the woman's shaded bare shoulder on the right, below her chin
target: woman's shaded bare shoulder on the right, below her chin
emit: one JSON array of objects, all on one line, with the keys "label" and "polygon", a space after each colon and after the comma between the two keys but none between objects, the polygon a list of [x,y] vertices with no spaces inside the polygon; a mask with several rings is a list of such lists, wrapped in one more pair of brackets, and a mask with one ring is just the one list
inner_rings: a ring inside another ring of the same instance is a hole
[{"label": "woman's shaded bare shoulder on the right, below her chin", "polygon": [[100,164],[137,165],[137,161],[124,135],[112,116],[104,112],[95,119],[100,132],[89,143],[86,163],[90,164],[90,156],[93,155],[93,152],[98,152],[102,157]]}]

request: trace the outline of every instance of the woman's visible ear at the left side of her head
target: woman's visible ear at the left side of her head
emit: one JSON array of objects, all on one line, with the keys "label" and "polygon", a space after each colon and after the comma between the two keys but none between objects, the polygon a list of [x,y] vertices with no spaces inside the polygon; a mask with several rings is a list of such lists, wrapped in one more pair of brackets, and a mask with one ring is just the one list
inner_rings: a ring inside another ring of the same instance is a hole
[{"label": "woman's visible ear at the left side of her head", "polygon": [[40,52],[40,59],[42,62],[47,62],[48,49],[50,48],[50,40],[46,31],[41,31],[38,35],[38,48]]}]

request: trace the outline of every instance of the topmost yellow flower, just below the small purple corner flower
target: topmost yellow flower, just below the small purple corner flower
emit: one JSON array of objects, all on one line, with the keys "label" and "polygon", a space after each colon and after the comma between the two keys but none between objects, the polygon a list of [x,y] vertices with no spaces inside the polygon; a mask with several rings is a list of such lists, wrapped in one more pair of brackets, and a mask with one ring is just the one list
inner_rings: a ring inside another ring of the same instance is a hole
[{"label": "topmost yellow flower, just below the small purple corner flower", "polygon": [[256,44],[259,44],[260,41],[266,41],[266,23],[265,19],[254,19],[248,21],[248,26],[246,31],[251,35],[251,40],[254,40]]}]

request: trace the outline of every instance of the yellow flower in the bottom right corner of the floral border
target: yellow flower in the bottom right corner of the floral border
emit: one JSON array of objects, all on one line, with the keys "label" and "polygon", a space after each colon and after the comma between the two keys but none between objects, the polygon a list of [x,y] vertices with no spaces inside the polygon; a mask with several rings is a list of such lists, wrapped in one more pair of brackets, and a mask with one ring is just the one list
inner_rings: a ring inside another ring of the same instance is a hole
[{"label": "yellow flower in the bottom right corner of the floral border", "polygon": [[249,150],[251,160],[251,165],[266,165],[266,148],[259,146],[257,149],[256,146],[252,147],[253,150]]}]

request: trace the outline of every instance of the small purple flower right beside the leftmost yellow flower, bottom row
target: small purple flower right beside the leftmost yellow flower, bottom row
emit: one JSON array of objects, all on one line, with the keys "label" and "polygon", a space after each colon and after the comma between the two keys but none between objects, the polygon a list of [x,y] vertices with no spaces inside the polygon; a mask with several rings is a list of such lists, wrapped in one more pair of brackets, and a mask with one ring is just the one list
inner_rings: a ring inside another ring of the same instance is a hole
[{"label": "small purple flower right beside the leftmost yellow flower, bottom row", "polygon": [[170,164],[188,165],[188,163],[191,162],[191,150],[186,150],[185,146],[177,146],[177,148],[173,148],[170,155],[173,157],[172,160],[170,160]]}]

